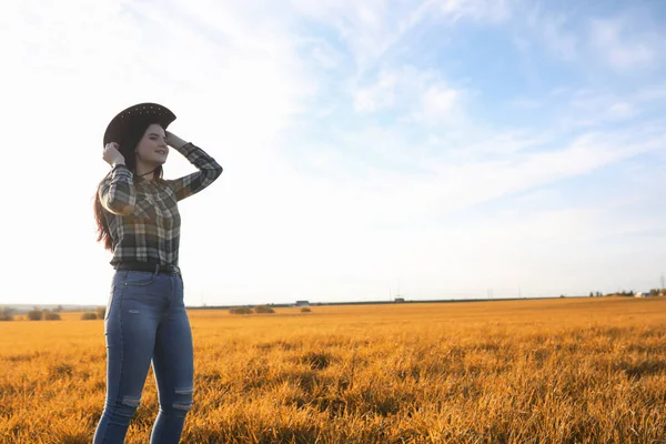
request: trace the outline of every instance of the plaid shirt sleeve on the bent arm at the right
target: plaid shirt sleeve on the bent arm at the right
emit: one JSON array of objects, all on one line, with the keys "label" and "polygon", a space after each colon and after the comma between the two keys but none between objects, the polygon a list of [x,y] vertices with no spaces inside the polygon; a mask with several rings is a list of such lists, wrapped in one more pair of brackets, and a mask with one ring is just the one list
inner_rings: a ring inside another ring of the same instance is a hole
[{"label": "plaid shirt sleeve on the bent arm at the right", "polygon": [[199,170],[195,173],[165,181],[167,185],[173,190],[178,201],[200,192],[222,174],[222,167],[201,148],[192,143],[185,143],[181,148],[175,148],[175,150]]}]

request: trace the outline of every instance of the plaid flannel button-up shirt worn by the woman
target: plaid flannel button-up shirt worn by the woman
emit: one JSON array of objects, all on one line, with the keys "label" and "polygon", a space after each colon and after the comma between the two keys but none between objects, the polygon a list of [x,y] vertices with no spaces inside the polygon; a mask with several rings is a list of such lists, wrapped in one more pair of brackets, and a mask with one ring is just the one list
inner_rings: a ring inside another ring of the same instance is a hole
[{"label": "plaid flannel button-up shirt worn by the woman", "polygon": [[98,193],[113,240],[111,265],[124,261],[178,265],[178,201],[213,183],[222,167],[192,143],[175,150],[199,171],[175,180],[148,181],[117,165],[100,183]]}]

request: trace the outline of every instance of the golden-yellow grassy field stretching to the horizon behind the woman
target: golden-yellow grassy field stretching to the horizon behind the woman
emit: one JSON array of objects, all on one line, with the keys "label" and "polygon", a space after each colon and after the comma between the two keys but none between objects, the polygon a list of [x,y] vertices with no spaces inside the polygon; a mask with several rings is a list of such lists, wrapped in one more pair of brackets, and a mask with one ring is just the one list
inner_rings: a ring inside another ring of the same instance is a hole
[{"label": "golden-yellow grassy field stretching to the horizon behind the woman", "polygon": [[[666,299],[191,311],[184,443],[666,443]],[[0,322],[0,442],[90,443],[102,321]],[[152,373],[128,443],[157,415]]]}]

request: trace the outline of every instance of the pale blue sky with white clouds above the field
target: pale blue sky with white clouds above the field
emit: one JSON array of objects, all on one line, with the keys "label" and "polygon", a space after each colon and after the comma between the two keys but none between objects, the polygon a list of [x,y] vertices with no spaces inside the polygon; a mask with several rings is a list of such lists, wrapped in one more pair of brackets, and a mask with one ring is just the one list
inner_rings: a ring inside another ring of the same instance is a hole
[{"label": "pale blue sky with white clouds above the field", "polygon": [[0,304],[107,303],[102,135],[144,101],[224,168],[179,204],[188,305],[666,273],[660,0],[10,0],[0,57]]}]

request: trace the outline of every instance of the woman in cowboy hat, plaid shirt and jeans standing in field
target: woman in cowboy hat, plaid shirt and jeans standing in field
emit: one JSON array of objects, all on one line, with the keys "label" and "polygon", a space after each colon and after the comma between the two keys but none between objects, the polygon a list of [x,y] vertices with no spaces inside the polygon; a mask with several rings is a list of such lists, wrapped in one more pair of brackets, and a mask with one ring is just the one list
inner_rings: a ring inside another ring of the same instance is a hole
[{"label": "woman in cowboy hat, plaid shirt and jeans standing in field", "polygon": [[[103,159],[112,167],[98,186],[98,241],[115,269],[104,317],[107,401],[94,443],[122,443],[141,401],[152,361],[160,412],[151,444],[178,443],[192,406],[193,353],[178,266],[178,201],[222,173],[203,150],[167,131],[175,115],[157,103],[119,113],[104,133]],[[162,179],[172,147],[198,172]]]}]

